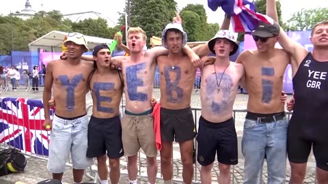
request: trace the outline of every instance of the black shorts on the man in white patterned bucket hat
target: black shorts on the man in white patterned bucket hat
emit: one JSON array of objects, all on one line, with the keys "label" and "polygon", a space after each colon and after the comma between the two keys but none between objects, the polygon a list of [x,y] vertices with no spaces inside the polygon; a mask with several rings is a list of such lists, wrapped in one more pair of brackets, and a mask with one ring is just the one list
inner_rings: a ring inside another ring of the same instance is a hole
[{"label": "black shorts on the man in white patterned bucket hat", "polygon": [[200,117],[197,135],[197,162],[208,166],[215,161],[221,164],[238,164],[238,143],[234,119],[212,123]]}]

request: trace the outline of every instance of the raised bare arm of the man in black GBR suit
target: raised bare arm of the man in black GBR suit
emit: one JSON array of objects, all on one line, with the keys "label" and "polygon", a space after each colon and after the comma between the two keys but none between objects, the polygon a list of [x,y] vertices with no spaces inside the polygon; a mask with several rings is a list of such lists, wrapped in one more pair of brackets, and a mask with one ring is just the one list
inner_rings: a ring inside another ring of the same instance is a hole
[{"label": "raised bare arm of the man in black GBR suit", "polygon": [[[267,15],[273,18],[273,20],[275,20],[276,22],[278,22],[275,0],[267,0]],[[303,58],[308,54],[308,51],[305,50],[305,48],[301,46],[301,44],[288,37],[282,27],[280,27],[278,42],[282,46],[282,48],[286,50],[286,52],[290,53],[292,61],[296,61],[298,64],[301,63]]]}]

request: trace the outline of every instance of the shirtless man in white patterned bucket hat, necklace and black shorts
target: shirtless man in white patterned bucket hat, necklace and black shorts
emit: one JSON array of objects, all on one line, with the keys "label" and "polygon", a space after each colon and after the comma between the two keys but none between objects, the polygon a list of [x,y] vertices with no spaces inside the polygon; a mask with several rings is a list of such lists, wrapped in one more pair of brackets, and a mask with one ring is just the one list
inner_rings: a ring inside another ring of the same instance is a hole
[{"label": "shirtless man in white patterned bucket hat, necklace and black shorts", "polygon": [[230,61],[230,55],[234,55],[238,50],[238,44],[230,31],[217,32],[208,42],[208,48],[216,55],[216,60],[214,64],[201,67],[202,114],[197,135],[197,162],[202,165],[202,183],[211,183],[211,170],[217,154],[219,183],[228,184],[231,178],[230,165],[238,164],[238,144],[232,107],[244,67]]}]

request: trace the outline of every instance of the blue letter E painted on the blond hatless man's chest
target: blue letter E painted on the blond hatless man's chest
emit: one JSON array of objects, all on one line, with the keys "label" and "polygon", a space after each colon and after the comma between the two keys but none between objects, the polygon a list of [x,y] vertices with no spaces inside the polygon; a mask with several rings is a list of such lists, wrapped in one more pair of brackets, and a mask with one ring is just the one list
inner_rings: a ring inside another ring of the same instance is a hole
[{"label": "blue letter E painted on the blond hatless man's chest", "polygon": [[140,63],[126,67],[126,87],[130,100],[145,102],[148,99],[146,93],[137,92],[137,87],[143,87],[143,79],[138,78],[137,74],[146,68],[146,63]]}]

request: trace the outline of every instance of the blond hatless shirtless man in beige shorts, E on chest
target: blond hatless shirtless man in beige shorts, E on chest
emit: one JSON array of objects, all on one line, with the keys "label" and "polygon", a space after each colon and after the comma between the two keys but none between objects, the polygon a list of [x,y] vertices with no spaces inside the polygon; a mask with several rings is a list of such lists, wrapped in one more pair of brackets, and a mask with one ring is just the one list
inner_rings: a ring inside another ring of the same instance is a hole
[{"label": "blond hatless shirtless man in beige shorts, E on chest", "polygon": [[[152,117],[152,97],[156,63],[154,59],[167,53],[163,47],[155,47],[143,52],[146,33],[139,27],[128,30],[129,57],[113,57],[111,63],[122,68],[126,108],[122,120],[122,142],[124,155],[128,156],[128,177],[130,183],[137,183],[137,153],[141,147],[147,156],[148,182],[155,183],[157,174]],[[189,47],[184,47],[191,60],[199,57]],[[87,59],[87,58],[86,58]]]}]

